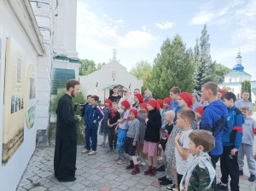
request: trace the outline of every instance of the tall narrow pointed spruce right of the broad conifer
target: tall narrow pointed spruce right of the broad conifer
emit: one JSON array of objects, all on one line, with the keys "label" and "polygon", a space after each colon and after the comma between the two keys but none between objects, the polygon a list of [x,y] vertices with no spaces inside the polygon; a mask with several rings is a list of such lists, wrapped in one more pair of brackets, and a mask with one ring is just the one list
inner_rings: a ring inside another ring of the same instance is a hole
[{"label": "tall narrow pointed spruce right of the broad conifer", "polygon": [[[215,62],[212,62],[209,43],[210,37],[207,33],[207,24],[201,31],[200,43],[196,40],[194,49],[194,61],[196,67],[195,90],[201,91],[201,85],[209,81],[216,82]],[[199,52],[198,52],[199,49]]]}]

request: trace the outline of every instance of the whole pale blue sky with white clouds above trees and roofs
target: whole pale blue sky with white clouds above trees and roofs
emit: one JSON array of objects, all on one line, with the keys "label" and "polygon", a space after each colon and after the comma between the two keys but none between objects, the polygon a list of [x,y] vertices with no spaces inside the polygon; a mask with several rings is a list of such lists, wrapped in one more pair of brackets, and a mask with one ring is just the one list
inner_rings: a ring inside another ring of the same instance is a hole
[{"label": "whole pale blue sky with white clouds above trees and roofs", "polygon": [[77,51],[80,59],[107,62],[117,49],[128,71],[137,61],[152,63],[166,38],[180,34],[195,46],[207,23],[212,61],[242,66],[256,79],[256,1],[78,0]]}]

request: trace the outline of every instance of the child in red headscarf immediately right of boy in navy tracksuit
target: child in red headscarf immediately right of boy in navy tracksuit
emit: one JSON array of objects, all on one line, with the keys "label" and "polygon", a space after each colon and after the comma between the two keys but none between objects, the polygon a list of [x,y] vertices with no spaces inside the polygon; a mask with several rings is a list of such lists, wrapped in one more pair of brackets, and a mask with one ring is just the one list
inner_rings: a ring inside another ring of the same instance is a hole
[{"label": "child in red headscarf immediately right of boy in navy tracksuit", "polygon": [[103,142],[100,145],[101,147],[108,147],[108,115],[111,113],[112,101],[107,99],[105,100],[105,107],[102,109],[104,118],[102,119],[100,135],[103,136]]}]

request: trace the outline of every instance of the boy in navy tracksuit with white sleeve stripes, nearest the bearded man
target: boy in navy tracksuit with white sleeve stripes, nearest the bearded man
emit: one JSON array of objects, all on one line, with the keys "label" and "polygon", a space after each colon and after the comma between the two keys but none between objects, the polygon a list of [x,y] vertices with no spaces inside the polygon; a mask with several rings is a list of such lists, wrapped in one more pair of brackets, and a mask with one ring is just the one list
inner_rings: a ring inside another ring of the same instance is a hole
[{"label": "boy in navy tracksuit with white sleeve stripes, nearest the bearded man", "polygon": [[[102,121],[104,118],[104,114],[102,113],[101,107],[97,105],[99,101],[98,96],[91,96],[90,104],[91,106],[87,108],[85,111],[85,124],[86,124],[86,131],[85,131],[85,142],[86,142],[86,151],[84,153],[88,153],[89,155],[96,154],[96,147],[97,147],[97,131],[99,122]],[[91,148],[90,151],[90,138],[91,138]]]}]

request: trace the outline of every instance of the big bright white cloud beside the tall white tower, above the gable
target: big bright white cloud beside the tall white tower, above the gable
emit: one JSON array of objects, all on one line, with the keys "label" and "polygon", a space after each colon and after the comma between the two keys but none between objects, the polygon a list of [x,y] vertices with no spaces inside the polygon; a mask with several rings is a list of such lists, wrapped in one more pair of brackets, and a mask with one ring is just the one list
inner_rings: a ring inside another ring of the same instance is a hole
[{"label": "big bright white cloud beside the tall white tower, above the gable", "polygon": [[77,42],[84,46],[91,46],[94,49],[110,49],[102,43],[108,41],[113,46],[141,49],[148,47],[156,39],[146,27],[143,27],[141,31],[133,30],[119,35],[119,29],[124,27],[124,20],[114,20],[108,14],[97,17],[88,10],[88,6],[84,3],[78,3],[77,11]]}]

